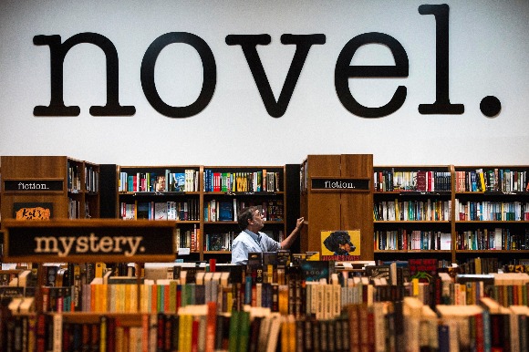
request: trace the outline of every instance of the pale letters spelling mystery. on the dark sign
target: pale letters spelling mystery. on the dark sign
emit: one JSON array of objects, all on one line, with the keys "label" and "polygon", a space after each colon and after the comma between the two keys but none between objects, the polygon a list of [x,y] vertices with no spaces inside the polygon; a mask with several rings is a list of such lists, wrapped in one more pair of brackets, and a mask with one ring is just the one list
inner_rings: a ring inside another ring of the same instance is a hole
[{"label": "pale letters spelling mystery. on the dark sign", "polygon": [[143,237],[141,236],[103,236],[98,237],[94,233],[89,236],[35,237],[35,253],[57,254],[67,256],[72,254],[124,254],[133,256],[140,252],[145,252],[145,247],[141,246]]}]

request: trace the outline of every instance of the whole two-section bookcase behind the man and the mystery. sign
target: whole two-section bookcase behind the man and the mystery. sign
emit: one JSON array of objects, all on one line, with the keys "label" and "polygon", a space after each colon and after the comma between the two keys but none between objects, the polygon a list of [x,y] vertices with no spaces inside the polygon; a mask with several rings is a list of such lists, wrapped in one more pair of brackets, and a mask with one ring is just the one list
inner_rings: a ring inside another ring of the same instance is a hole
[{"label": "whole two-section bookcase behind the man and the mystery. sign", "polygon": [[117,217],[175,221],[185,260],[229,262],[244,206],[262,210],[265,233],[285,235],[285,166],[119,166],[116,177]]}]

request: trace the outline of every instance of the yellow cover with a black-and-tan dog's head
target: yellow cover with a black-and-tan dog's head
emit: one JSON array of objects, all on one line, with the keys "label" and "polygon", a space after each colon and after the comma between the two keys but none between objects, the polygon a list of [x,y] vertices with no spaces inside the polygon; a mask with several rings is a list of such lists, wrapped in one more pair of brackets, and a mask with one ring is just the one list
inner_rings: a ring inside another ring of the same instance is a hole
[{"label": "yellow cover with a black-and-tan dog's head", "polygon": [[360,230],[322,231],[321,260],[360,260]]}]

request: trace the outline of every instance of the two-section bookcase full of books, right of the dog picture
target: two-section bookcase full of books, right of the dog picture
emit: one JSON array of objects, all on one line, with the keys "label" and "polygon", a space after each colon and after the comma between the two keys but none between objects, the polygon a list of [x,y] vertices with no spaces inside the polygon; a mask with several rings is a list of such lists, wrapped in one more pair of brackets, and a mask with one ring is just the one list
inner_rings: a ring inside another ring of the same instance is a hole
[{"label": "two-section bookcase full of books, right of the dog picture", "polygon": [[374,258],[529,258],[529,166],[374,167]]}]

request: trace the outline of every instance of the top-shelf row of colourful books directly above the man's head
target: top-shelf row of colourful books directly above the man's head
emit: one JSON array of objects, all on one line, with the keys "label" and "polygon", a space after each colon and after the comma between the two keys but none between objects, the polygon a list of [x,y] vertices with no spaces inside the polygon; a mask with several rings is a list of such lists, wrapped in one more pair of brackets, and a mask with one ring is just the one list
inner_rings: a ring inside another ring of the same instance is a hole
[{"label": "top-shelf row of colourful books directly above the man's head", "polygon": [[240,171],[221,172],[206,169],[203,172],[204,192],[279,192],[280,172]]}]

